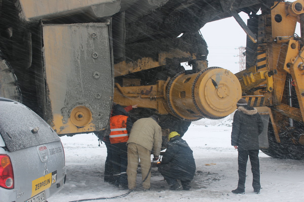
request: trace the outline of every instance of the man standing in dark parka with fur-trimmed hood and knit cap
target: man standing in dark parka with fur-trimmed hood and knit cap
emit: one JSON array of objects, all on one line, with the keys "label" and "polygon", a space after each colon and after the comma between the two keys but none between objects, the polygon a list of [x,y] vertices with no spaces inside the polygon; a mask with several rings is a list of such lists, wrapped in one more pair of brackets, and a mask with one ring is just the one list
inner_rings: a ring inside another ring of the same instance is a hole
[{"label": "man standing in dark parka with fur-trimmed hood and knit cap", "polygon": [[253,175],[252,187],[256,194],[260,193],[259,135],[263,131],[262,119],[257,109],[249,107],[245,99],[237,102],[237,111],[233,116],[231,145],[238,151],[239,182],[234,194],[245,193],[246,165],[248,156]]}]

